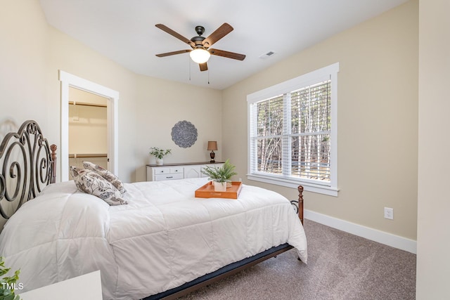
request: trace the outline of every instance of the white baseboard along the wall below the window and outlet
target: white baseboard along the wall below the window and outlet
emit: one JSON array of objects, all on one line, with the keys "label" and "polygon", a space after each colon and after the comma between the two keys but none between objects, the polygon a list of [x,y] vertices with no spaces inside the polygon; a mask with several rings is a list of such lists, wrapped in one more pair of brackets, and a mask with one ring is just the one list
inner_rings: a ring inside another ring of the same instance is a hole
[{"label": "white baseboard along the wall below the window and outlet", "polygon": [[387,244],[390,247],[417,254],[417,242],[415,240],[407,239],[406,237],[385,233],[384,231],[368,228],[307,209],[304,210],[304,218],[345,231],[346,233],[352,233],[352,235],[358,235],[359,237],[364,237],[368,240],[373,240],[381,244]]}]

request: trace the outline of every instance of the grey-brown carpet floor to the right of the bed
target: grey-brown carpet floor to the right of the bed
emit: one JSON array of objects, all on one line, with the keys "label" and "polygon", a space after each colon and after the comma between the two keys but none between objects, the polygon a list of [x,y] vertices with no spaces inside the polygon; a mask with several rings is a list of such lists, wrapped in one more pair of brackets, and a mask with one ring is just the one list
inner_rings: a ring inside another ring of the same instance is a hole
[{"label": "grey-brown carpet floor to the right of the bed", "polygon": [[180,299],[416,298],[416,254],[309,220],[304,228],[308,264],[291,249]]}]

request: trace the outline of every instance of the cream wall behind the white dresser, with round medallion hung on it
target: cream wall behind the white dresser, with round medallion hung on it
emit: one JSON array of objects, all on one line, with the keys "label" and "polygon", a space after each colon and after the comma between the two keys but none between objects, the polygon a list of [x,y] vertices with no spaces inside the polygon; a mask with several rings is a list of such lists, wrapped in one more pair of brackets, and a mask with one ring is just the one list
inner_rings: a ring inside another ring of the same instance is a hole
[{"label": "cream wall behind the white dresser, with round medallion hung on it", "polygon": [[[221,91],[188,84],[140,76],[137,80],[139,110],[134,115],[137,146],[129,153],[148,157],[150,147],[171,149],[164,162],[206,162],[210,160],[207,141],[218,141],[217,158],[221,160]],[[181,148],[172,141],[172,127],[179,121],[191,122],[197,129],[197,141]],[[144,163],[155,163],[154,157]],[[138,168],[146,176],[144,164]],[[145,180],[142,177],[142,180]]]}]

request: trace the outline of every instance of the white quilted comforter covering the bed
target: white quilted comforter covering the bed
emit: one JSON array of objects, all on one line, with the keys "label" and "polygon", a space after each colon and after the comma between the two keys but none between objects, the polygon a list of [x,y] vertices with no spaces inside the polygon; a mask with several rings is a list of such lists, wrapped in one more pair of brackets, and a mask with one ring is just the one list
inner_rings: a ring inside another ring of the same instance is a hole
[{"label": "white quilted comforter covering the bed", "polygon": [[[193,197],[204,178],[126,184],[110,207],[73,181],[49,185],[6,223],[0,255],[23,291],[101,270],[103,299],[140,299],[288,242],[307,241],[285,197],[243,185],[238,200]],[[296,263],[296,261],[293,261]]]}]

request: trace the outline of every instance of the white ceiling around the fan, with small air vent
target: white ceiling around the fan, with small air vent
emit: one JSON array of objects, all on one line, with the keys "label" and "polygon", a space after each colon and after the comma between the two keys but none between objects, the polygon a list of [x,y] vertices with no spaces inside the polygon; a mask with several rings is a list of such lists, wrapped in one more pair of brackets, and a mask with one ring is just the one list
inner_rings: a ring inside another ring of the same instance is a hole
[{"label": "white ceiling around the fan, with small air vent", "polygon": [[[40,0],[50,25],[127,69],[151,77],[225,89],[284,58],[407,0]],[[162,23],[184,37],[224,22],[234,30],[212,48],[245,54],[245,60],[211,56],[200,72],[189,49],[155,27]],[[276,54],[259,58],[264,53]],[[208,83],[209,82],[209,83]]]}]

